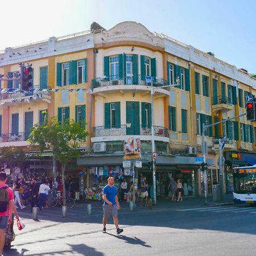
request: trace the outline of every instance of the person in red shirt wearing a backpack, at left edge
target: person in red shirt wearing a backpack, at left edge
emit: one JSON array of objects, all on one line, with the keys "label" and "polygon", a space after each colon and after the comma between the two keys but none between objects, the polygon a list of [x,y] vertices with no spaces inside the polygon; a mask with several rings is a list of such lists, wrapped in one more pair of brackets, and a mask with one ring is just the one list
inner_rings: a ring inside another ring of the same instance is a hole
[{"label": "person in red shirt wearing a backpack, at left edge", "polygon": [[[6,173],[0,172],[0,255],[3,254],[3,246],[5,245],[5,230],[7,225],[10,225],[13,221],[14,210],[13,189],[7,187],[6,180]],[[19,218],[16,211],[15,216],[17,219]]]}]

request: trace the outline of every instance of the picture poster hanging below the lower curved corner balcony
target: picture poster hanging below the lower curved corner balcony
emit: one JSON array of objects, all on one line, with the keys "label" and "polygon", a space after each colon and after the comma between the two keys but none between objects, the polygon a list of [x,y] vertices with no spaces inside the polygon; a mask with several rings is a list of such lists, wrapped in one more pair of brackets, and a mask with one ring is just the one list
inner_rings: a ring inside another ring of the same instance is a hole
[{"label": "picture poster hanging below the lower curved corner balcony", "polygon": [[125,156],[123,159],[136,159],[141,157],[141,139],[140,138],[127,138],[125,140]]}]

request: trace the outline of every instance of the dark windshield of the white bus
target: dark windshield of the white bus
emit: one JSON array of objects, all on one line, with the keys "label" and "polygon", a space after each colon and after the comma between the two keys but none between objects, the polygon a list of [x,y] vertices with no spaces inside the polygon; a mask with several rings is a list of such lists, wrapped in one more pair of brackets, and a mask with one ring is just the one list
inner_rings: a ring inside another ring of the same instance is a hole
[{"label": "dark windshield of the white bus", "polygon": [[256,172],[233,171],[234,193],[256,193]]}]

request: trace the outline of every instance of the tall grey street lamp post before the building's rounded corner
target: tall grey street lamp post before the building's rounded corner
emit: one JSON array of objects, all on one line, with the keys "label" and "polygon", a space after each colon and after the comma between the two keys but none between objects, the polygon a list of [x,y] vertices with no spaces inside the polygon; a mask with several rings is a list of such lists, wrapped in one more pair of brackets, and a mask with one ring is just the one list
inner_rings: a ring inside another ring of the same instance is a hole
[{"label": "tall grey street lamp post before the building's rounded corner", "polygon": [[[176,77],[176,84],[172,85],[163,85],[158,86],[155,89],[167,88],[171,86],[179,85],[180,77]],[[154,133],[154,87],[153,87],[153,77],[150,77],[150,88],[151,88],[151,145],[152,145],[152,152],[155,152],[155,133]],[[154,205],[156,205],[156,180],[155,180],[155,159],[152,157],[152,168],[153,168],[153,195],[154,195]]]}]

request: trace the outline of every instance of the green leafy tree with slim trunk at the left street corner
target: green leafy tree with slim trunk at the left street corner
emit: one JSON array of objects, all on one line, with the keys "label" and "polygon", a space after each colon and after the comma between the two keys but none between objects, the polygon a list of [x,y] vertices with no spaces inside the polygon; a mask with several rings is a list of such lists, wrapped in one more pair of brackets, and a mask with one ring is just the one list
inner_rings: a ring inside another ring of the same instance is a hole
[{"label": "green leafy tree with slim trunk at the left street corner", "polygon": [[[85,123],[67,120],[64,124],[58,122],[56,117],[48,117],[44,125],[37,123],[30,134],[31,144],[38,144],[40,152],[52,150],[53,158],[61,163],[61,176],[63,182],[63,195],[65,195],[65,167],[66,164],[80,155],[80,143],[85,142],[88,132]],[[63,205],[65,206],[65,196]]]}]

